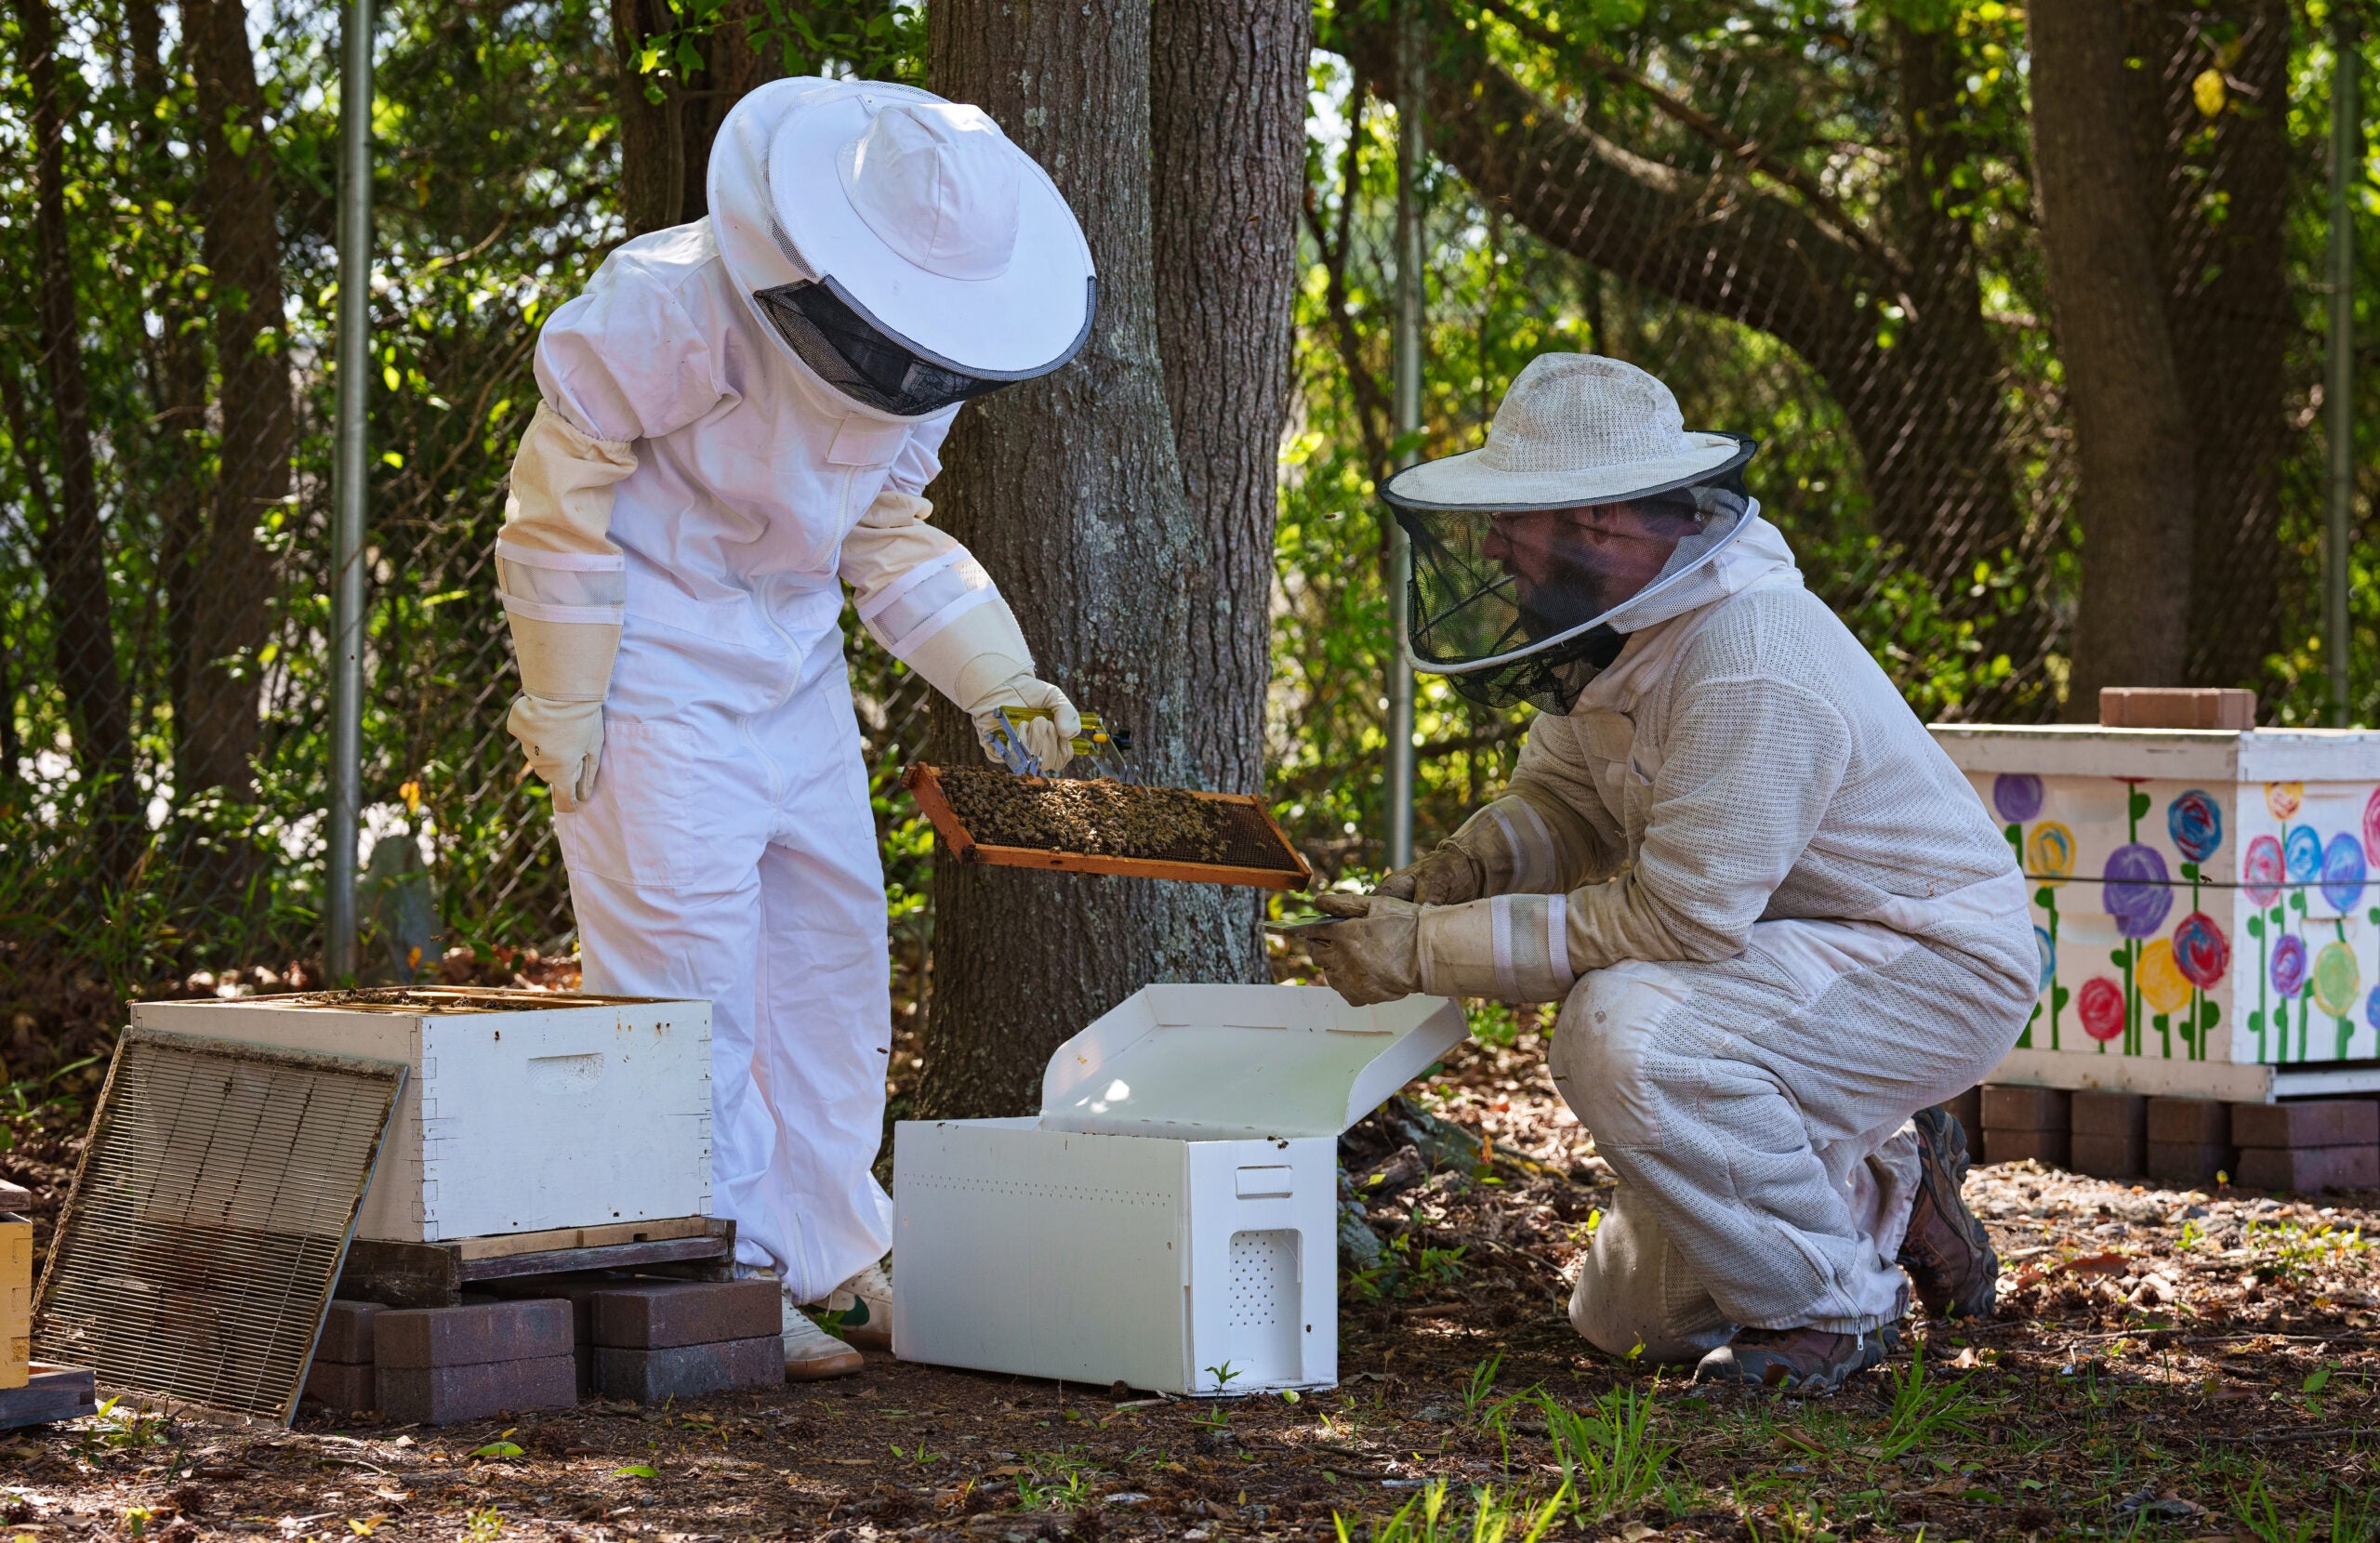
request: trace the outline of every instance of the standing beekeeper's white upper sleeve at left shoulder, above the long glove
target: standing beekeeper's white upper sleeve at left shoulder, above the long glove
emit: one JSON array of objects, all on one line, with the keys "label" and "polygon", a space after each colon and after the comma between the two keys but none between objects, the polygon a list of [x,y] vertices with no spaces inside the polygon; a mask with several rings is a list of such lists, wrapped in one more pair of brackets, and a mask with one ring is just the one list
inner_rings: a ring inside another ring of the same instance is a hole
[{"label": "standing beekeeper's white upper sleeve at left shoulder, above the long glove", "polygon": [[662,438],[728,395],[719,341],[676,288],[614,252],[538,331],[538,393],[597,441]]}]

